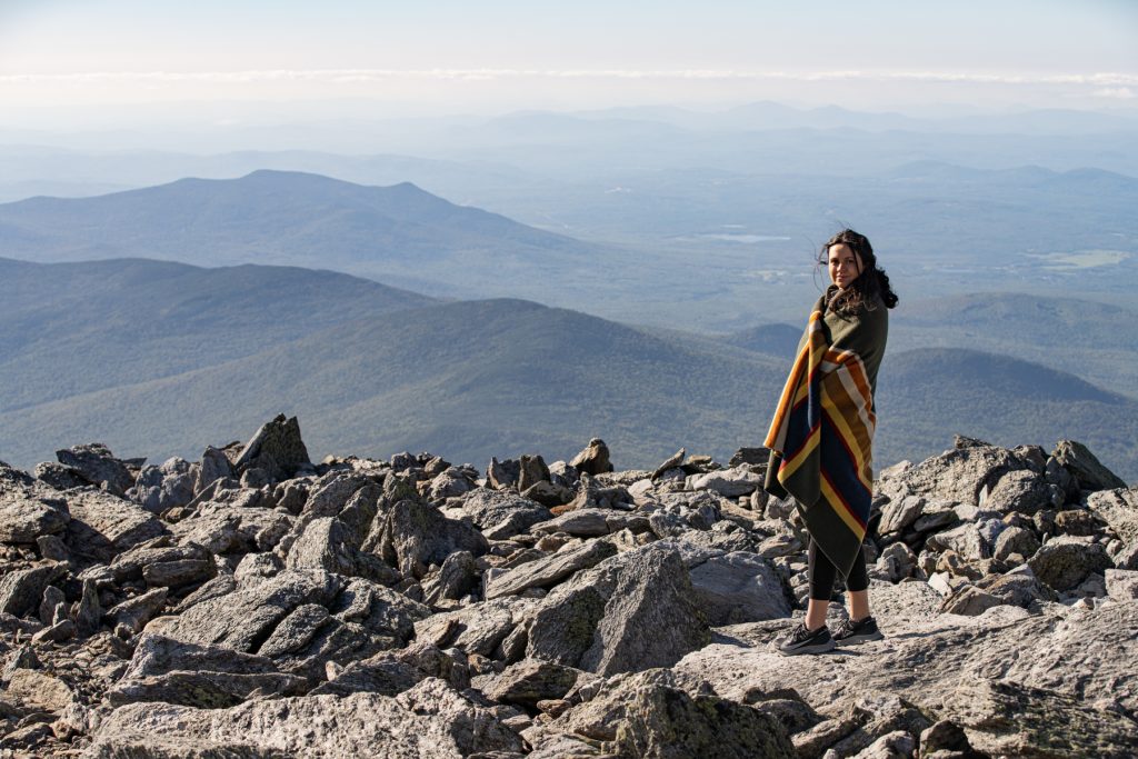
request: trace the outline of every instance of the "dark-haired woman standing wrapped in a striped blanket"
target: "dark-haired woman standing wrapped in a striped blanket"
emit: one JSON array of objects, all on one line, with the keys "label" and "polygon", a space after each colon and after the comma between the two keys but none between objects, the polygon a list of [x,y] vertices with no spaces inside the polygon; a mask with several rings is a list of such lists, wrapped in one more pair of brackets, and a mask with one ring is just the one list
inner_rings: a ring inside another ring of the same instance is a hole
[{"label": "dark-haired woman standing wrapped in a striped blanket", "polygon": [[[806,619],[780,642],[786,655],[882,637],[869,613],[861,542],[873,502],[873,395],[897,295],[869,240],[852,230],[831,238],[822,261],[832,284],[810,313],[765,443],[765,487],[794,496],[810,534],[810,597]],[[850,613],[831,636],[826,608],[838,571]]]}]

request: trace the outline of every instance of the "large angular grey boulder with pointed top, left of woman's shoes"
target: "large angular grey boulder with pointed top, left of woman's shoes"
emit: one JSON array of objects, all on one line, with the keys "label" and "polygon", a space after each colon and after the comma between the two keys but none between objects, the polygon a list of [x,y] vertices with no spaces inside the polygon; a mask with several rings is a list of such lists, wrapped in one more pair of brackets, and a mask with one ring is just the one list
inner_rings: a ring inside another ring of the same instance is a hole
[{"label": "large angular grey boulder with pointed top, left of woman's shoes", "polygon": [[526,655],[601,675],[667,667],[710,640],[698,604],[675,550],[618,554],[542,600]]}]

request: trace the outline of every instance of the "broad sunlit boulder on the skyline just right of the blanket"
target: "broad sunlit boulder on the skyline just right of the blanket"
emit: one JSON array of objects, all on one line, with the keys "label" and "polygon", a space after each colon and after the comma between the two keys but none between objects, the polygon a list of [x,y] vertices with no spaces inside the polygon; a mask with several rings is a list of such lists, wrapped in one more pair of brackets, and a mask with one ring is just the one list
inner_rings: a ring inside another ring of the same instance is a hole
[{"label": "broad sunlit boulder on the skyline just right of the blanket", "polygon": [[1026,461],[1011,451],[972,445],[926,459],[881,487],[891,497],[917,495],[979,504],[981,492],[987,488],[990,493],[1007,472],[1030,469]]}]

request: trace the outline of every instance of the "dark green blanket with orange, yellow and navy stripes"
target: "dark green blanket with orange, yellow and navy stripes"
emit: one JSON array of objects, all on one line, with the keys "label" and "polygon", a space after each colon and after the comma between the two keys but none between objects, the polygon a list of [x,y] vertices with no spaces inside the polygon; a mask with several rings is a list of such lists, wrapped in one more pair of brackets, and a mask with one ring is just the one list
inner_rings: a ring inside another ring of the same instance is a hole
[{"label": "dark green blanket with orange, yellow and navy stripes", "polygon": [[765,443],[766,489],[794,496],[810,537],[847,575],[873,502],[873,393],[887,332],[884,304],[843,319],[820,298]]}]

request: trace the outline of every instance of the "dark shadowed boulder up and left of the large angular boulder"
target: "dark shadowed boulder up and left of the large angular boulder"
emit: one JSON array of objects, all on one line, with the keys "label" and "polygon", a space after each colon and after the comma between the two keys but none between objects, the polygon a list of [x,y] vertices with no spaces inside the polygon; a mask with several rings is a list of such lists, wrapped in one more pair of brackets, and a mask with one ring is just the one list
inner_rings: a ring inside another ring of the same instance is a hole
[{"label": "dark shadowed boulder up and left of the large angular boulder", "polygon": [[480,556],[489,550],[471,523],[447,519],[434,506],[407,500],[388,513],[380,546],[386,561],[415,577],[423,577],[428,564],[440,564],[455,551]]}]

